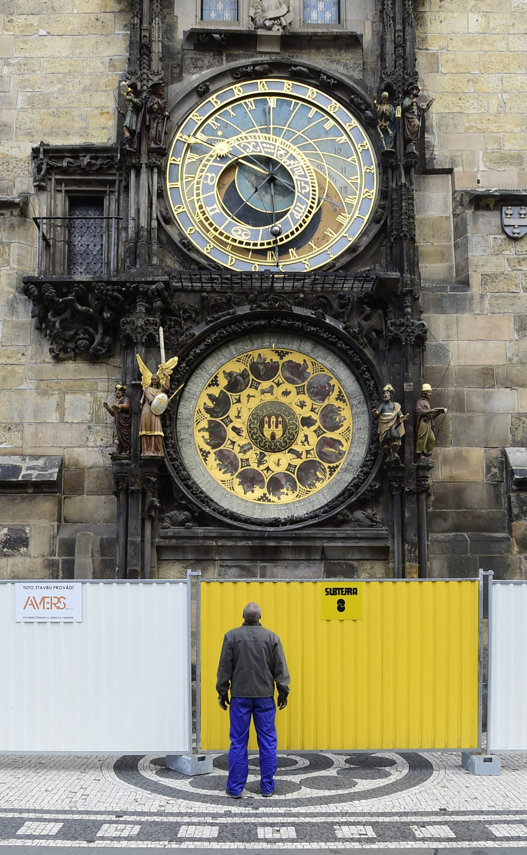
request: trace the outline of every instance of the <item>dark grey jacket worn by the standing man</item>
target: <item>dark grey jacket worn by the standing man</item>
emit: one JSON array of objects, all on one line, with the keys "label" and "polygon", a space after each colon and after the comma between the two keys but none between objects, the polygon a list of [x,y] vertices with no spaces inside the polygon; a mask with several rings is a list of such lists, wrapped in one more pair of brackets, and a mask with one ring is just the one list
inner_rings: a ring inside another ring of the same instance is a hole
[{"label": "dark grey jacket worn by the standing man", "polygon": [[221,648],[216,690],[221,697],[272,698],[289,694],[290,675],[278,635],[261,623],[243,622],[225,634]]}]

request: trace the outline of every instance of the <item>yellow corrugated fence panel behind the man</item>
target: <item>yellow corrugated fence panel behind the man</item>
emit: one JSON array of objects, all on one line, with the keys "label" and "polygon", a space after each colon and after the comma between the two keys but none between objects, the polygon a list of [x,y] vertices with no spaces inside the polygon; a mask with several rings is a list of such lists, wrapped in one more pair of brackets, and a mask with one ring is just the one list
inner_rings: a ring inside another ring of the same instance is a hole
[{"label": "yellow corrugated fence panel behind the man", "polygon": [[229,747],[216,669],[251,601],[290,669],[281,750],[477,747],[478,582],[362,582],[362,619],[323,621],[328,583],[202,582],[202,748]]}]

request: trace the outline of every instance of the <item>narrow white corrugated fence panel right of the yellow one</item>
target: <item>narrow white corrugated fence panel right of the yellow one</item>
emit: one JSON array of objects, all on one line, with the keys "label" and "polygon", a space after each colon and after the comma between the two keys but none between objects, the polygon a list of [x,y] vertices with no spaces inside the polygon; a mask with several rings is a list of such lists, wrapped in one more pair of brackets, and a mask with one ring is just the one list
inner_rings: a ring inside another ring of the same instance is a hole
[{"label": "narrow white corrugated fence panel right of the yellow one", "polygon": [[527,582],[493,582],[489,746],[527,751]]}]

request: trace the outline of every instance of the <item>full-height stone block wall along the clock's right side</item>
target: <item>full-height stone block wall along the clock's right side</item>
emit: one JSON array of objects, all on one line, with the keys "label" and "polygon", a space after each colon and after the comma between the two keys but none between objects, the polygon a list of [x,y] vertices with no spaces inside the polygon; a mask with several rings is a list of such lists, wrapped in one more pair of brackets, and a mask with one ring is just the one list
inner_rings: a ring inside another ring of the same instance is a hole
[{"label": "full-height stone block wall along the clock's right side", "polygon": [[527,444],[527,238],[503,231],[501,205],[527,188],[527,9],[419,0],[417,27],[424,99],[436,97],[429,174],[417,180],[425,379],[433,404],[449,407],[438,419],[430,571],[524,578],[503,450]]}]

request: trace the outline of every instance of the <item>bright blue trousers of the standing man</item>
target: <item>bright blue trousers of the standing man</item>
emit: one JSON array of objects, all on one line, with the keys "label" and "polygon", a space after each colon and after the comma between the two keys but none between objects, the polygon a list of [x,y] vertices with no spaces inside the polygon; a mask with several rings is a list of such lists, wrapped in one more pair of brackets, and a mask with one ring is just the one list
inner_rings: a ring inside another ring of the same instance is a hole
[{"label": "bright blue trousers of the standing man", "polygon": [[231,698],[231,748],[229,749],[229,777],[227,790],[233,796],[242,794],[249,775],[249,725],[255,722],[256,738],[260,750],[260,786],[264,795],[274,790],[274,773],[277,770],[277,735],[274,719],[274,698]]}]

